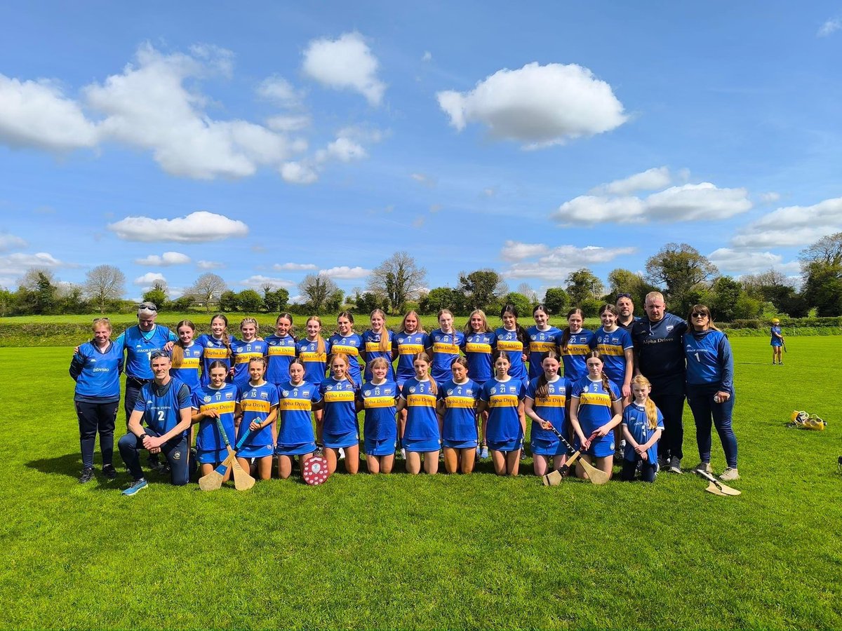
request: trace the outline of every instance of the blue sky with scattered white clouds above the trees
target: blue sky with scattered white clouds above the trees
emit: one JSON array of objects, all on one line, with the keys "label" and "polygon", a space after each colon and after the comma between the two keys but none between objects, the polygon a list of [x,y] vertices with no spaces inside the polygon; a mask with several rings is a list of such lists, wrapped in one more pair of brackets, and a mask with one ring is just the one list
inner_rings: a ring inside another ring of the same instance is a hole
[{"label": "blue sky with scattered white clouds above the trees", "polygon": [[797,275],[842,231],[842,4],[5,3],[0,285]]}]

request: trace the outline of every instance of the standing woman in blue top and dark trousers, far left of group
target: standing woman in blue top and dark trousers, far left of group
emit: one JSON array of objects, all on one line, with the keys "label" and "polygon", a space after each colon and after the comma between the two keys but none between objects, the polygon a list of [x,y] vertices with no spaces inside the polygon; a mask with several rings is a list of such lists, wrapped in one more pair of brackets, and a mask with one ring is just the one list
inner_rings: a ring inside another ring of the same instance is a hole
[{"label": "standing woman in blue top and dark trousers, far left of group", "polygon": [[120,408],[120,373],[123,372],[123,347],[111,342],[111,321],[93,321],[93,339],[73,355],[70,376],[76,382],[73,402],[79,418],[79,444],[82,448],[82,484],[93,480],[93,446],[99,431],[99,450],[103,454],[103,475],[115,480],[114,426]]}]

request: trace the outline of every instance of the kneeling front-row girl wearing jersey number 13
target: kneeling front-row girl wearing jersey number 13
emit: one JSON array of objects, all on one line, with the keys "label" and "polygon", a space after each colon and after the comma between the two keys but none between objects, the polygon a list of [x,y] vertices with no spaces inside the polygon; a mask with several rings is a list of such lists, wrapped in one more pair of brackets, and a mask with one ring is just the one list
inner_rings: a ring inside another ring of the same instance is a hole
[{"label": "kneeling front-row girl wearing jersey number 13", "polygon": [[365,410],[365,466],[370,474],[392,473],[395,463],[397,384],[388,379],[392,364],[376,357],[365,367],[371,374],[357,393],[357,411]]}]

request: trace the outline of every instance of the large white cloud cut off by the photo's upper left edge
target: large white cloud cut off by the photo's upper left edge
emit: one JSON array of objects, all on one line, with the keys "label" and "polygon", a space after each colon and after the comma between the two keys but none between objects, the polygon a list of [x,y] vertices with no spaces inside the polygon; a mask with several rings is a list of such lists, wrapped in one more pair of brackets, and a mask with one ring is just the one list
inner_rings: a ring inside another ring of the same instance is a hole
[{"label": "large white cloud cut off by the photo's upper left edge", "polygon": [[47,80],[24,81],[0,74],[0,141],[50,151],[93,147],[97,126],[79,103]]}]

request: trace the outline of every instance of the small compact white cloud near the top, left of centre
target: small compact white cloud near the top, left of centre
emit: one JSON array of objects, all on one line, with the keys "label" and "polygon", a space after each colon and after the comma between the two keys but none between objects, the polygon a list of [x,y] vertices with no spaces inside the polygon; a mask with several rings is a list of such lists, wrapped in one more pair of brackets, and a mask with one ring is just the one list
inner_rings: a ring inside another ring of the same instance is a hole
[{"label": "small compact white cloud near the top, left of centre", "polygon": [[359,33],[338,40],[312,40],[304,51],[304,73],[334,89],[352,89],[379,105],[386,85],[377,78],[377,58]]}]

